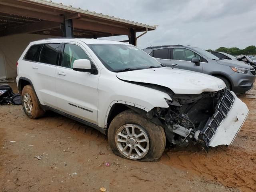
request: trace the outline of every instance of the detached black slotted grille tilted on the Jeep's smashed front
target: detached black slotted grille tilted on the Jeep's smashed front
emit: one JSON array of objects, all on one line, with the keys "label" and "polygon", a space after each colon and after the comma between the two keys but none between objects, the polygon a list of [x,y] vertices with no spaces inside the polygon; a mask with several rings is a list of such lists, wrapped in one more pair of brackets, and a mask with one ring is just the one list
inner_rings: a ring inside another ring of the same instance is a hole
[{"label": "detached black slotted grille tilted on the Jeep's smashed front", "polygon": [[205,128],[202,130],[202,135],[205,138],[205,142],[207,146],[208,146],[208,143],[212,140],[214,134],[217,132],[220,124],[222,124],[222,122],[228,115],[228,112],[232,108],[234,100],[235,100],[235,97],[232,94],[232,92],[230,92],[230,90],[228,89],[225,89],[222,95],[222,99],[218,103],[216,112],[210,118]]}]

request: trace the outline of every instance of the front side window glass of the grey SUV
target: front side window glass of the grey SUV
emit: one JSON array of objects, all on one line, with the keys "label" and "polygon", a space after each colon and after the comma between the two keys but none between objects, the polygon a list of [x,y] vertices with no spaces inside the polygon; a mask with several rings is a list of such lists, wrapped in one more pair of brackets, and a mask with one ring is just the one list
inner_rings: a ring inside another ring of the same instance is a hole
[{"label": "front side window glass of the grey SUV", "polygon": [[184,48],[173,48],[173,59],[182,61],[191,61],[192,58],[198,58],[201,61],[200,55]]}]

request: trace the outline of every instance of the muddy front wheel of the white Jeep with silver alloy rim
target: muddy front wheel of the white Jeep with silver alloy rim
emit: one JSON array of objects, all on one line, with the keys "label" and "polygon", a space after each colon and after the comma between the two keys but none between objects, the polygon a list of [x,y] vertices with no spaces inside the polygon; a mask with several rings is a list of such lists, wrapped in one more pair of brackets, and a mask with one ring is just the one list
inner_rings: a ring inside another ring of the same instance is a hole
[{"label": "muddy front wheel of the white Jeep with silver alloy rim", "polygon": [[114,154],[130,160],[156,161],[166,145],[164,129],[133,110],[118,114],[108,128]]}]

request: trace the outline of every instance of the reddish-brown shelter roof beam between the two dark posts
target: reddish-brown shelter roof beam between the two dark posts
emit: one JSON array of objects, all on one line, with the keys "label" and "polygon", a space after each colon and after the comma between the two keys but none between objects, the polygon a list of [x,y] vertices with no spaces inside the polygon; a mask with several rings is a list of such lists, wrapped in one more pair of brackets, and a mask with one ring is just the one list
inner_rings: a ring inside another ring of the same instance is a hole
[{"label": "reddish-brown shelter roof beam between the two dark posts", "polygon": [[113,34],[120,34],[120,35],[129,35],[129,29],[120,28],[105,24],[98,24],[94,22],[82,21],[73,19],[73,27],[78,29],[84,30],[91,30],[91,31],[99,31],[99,32],[106,32],[106,33],[113,33]]}]

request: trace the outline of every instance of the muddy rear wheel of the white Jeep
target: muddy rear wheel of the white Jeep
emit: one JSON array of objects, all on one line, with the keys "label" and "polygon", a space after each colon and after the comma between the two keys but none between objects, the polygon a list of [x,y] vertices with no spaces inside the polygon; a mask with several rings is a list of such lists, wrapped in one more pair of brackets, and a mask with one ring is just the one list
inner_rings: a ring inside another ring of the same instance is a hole
[{"label": "muddy rear wheel of the white Jeep", "polygon": [[44,115],[44,110],[31,85],[24,86],[21,96],[23,110],[29,118],[36,119]]}]

